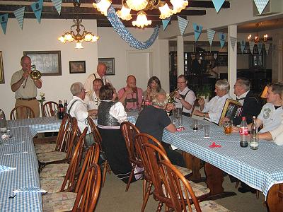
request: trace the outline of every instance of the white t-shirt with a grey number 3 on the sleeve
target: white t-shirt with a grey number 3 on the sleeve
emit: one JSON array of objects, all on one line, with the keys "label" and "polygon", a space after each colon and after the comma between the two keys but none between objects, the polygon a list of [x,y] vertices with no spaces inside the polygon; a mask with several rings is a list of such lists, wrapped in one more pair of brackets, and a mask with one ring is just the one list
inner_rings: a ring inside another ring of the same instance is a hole
[{"label": "white t-shirt with a grey number 3 on the sleeve", "polygon": [[275,110],[275,106],[272,103],[267,102],[263,105],[258,119],[262,120],[263,128],[260,133],[276,129],[282,122],[283,109],[282,106]]}]

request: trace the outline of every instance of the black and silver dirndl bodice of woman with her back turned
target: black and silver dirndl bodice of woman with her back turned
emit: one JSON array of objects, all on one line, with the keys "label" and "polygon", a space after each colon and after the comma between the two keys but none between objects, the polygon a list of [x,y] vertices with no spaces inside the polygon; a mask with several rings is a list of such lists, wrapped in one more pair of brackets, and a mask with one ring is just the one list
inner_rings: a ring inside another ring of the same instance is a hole
[{"label": "black and silver dirndl bodice of woman with her back turned", "polygon": [[98,124],[102,126],[120,126],[117,119],[109,114],[110,108],[115,105],[116,102],[100,102],[98,106]]}]

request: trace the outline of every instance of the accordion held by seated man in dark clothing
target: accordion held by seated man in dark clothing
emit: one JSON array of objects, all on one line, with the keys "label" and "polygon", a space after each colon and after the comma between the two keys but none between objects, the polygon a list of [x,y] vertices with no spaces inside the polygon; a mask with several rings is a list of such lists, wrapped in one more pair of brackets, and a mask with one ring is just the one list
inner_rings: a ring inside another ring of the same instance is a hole
[{"label": "accordion held by seated man in dark clothing", "polygon": [[236,100],[226,99],[218,125],[222,126],[221,119],[223,119],[224,117],[227,117],[230,120],[232,120],[233,118],[240,116],[241,112],[242,112],[242,105],[240,102]]}]

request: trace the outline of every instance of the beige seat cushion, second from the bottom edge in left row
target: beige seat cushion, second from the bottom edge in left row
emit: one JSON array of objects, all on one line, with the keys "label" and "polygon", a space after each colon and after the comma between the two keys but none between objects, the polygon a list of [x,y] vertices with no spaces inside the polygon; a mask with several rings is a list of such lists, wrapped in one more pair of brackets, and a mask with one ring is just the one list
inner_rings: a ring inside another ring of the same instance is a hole
[{"label": "beige seat cushion, second from the bottom edge in left row", "polygon": [[[40,179],[41,188],[47,193],[60,192],[63,182],[64,177],[47,177]],[[67,189],[67,184],[65,189]]]}]

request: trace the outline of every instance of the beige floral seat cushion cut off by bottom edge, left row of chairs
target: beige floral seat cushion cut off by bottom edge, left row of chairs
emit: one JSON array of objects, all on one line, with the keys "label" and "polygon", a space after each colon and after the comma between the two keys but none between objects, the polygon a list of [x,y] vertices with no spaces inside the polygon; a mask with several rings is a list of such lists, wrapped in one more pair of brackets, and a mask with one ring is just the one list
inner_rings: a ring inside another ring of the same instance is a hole
[{"label": "beige floral seat cushion cut off by bottom edge, left row of chairs", "polygon": [[72,192],[45,194],[42,196],[43,211],[71,211],[75,200],[76,193]]}]

